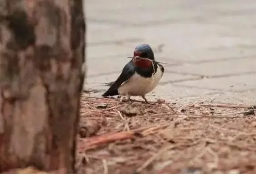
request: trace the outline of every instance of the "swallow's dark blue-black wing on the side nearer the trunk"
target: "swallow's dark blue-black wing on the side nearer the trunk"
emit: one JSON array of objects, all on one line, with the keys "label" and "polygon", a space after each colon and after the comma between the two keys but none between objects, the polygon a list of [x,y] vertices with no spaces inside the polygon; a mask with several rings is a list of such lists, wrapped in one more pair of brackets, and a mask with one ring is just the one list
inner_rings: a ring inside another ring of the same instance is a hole
[{"label": "swallow's dark blue-black wing on the side nearer the trunk", "polygon": [[118,79],[112,84],[111,87],[109,87],[109,89],[104,94],[102,94],[102,96],[107,97],[118,95],[118,87],[120,87],[123,82],[127,81],[134,73],[135,66],[133,62],[130,61],[124,66],[123,71]]}]

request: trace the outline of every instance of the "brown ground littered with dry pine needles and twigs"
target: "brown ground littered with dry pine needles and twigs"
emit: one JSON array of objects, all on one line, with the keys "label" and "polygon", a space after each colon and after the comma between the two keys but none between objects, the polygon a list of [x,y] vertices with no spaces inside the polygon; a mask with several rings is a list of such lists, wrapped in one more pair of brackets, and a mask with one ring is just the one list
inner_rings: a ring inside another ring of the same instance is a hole
[{"label": "brown ground littered with dry pine needles and twigs", "polygon": [[80,172],[256,174],[255,106],[81,100]]}]

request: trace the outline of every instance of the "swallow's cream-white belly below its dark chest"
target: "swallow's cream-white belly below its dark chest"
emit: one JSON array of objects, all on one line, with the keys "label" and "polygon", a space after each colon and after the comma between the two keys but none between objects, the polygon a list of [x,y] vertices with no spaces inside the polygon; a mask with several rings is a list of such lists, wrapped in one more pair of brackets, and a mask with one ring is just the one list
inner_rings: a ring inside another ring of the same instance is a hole
[{"label": "swallow's cream-white belly below its dark chest", "polygon": [[142,77],[137,72],[135,72],[132,77],[130,77],[118,88],[118,93],[121,96],[144,96],[156,87],[162,76],[163,73],[160,67],[152,77],[148,78]]}]

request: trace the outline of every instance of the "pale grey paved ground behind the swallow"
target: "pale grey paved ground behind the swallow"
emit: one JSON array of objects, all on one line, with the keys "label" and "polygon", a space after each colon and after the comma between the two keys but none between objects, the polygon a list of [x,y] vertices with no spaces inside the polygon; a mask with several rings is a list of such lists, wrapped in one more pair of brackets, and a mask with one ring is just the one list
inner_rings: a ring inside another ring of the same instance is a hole
[{"label": "pale grey paved ground behind the swallow", "polygon": [[256,104],[255,0],[86,0],[86,15],[90,95],[148,43],[170,63],[150,100]]}]

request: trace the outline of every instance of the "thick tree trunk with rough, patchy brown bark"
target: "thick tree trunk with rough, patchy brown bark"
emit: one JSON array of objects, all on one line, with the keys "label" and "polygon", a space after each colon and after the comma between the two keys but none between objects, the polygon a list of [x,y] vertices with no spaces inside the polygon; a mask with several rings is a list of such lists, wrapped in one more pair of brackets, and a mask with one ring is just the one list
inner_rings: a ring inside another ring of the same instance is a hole
[{"label": "thick tree trunk with rough, patchy brown bark", "polygon": [[82,7],[82,0],[0,0],[0,171],[75,171]]}]

